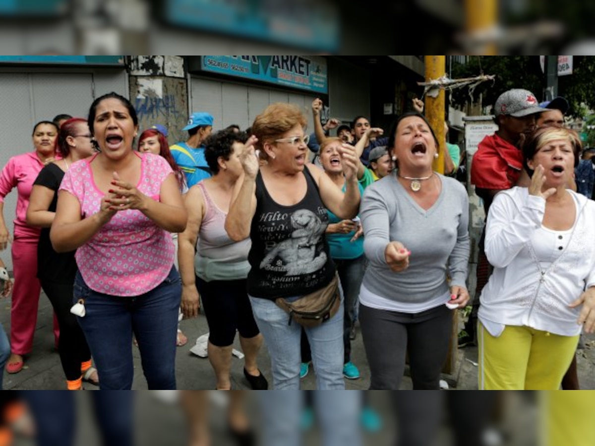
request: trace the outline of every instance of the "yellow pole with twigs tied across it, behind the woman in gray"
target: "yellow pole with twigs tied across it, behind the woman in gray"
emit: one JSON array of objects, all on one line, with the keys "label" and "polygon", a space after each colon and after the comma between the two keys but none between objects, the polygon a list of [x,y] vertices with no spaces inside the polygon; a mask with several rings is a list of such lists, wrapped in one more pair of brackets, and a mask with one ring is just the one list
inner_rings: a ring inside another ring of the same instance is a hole
[{"label": "yellow pole with twigs tied across it, behind the woman in gray", "polygon": [[[446,73],[446,56],[425,56],[425,81],[439,79]],[[433,169],[440,174],[444,173],[444,89],[433,89],[425,95],[425,117],[436,133],[440,147],[438,158],[434,160]]]}]

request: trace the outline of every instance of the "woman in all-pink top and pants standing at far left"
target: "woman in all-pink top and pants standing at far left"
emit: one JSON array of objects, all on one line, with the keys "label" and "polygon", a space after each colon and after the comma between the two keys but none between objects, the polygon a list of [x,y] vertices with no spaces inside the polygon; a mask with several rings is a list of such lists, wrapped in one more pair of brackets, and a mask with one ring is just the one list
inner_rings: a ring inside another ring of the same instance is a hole
[{"label": "woman in all-pink top and pants standing at far left", "polygon": [[[23,355],[33,347],[33,333],[37,323],[37,306],[41,285],[37,279],[37,241],[39,228],[27,224],[29,196],[37,175],[56,156],[55,141],[58,127],[51,121],[40,121],[33,127],[33,152],[13,156],[0,174],[0,251],[11,241],[4,221],[4,197],[15,187],[18,191],[17,218],[14,220],[12,240],[12,270],[14,291],[10,319],[10,346],[12,354],[6,370],[17,373],[23,369]],[[54,321],[54,333],[58,326]]]}]

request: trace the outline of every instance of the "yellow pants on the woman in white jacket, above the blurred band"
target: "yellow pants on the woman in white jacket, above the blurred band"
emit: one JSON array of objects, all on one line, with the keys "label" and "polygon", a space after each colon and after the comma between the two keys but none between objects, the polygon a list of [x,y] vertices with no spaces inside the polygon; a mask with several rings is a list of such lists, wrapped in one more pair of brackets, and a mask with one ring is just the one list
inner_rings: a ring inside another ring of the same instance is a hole
[{"label": "yellow pants on the woman in white jacket, above the blurred band", "polygon": [[559,390],[577,336],[560,336],[527,326],[506,325],[493,337],[478,322],[480,390]]}]

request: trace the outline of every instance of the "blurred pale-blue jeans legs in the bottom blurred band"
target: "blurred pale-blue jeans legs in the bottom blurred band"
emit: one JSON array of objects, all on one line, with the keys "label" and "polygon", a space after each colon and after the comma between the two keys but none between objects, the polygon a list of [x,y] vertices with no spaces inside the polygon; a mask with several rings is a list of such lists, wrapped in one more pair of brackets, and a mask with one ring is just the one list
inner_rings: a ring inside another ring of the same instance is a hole
[{"label": "blurred pale-blue jeans legs in the bottom blurred band", "polygon": [[[262,446],[300,446],[304,392],[256,392],[262,409]],[[324,446],[361,446],[361,391],[312,392]]]}]

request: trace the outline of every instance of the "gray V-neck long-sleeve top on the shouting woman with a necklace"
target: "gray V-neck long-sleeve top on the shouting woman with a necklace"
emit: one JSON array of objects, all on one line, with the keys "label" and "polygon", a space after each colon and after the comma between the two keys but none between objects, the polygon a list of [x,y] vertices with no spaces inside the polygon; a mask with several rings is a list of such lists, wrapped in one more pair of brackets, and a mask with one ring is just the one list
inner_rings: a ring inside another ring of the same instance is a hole
[{"label": "gray V-neck long-sleeve top on the shouting woman with a necklace", "polygon": [[[469,198],[461,183],[437,175],[442,188],[427,211],[394,174],[365,190],[360,215],[369,266],[363,284],[372,293],[399,303],[423,304],[447,293],[449,285],[466,287]],[[411,251],[405,271],[393,272],[387,265],[384,250],[389,241],[400,241]]]}]

